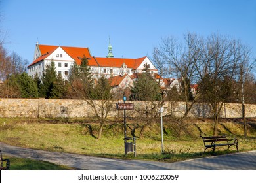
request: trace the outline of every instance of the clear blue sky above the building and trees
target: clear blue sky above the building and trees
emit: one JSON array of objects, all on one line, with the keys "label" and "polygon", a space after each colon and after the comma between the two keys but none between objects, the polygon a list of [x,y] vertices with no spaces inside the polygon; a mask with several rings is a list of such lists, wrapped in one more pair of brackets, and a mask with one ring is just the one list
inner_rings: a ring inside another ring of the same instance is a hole
[{"label": "clear blue sky above the building and trees", "polygon": [[5,48],[32,62],[35,43],[89,47],[106,57],[152,54],[161,37],[217,31],[240,39],[256,56],[256,0],[0,0]]}]

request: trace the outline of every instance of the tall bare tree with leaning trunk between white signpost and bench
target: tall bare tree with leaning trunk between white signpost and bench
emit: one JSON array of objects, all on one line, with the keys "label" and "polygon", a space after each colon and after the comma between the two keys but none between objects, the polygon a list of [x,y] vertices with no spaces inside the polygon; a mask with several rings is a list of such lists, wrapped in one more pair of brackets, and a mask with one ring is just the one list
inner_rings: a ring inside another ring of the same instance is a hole
[{"label": "tall bare tree with leaning trunk between white signpost and bench", "polygon": [[191,95],[191,84],[197,82],[196,63],[202,59],[202,38],[196,34],[184,35],[184,42],[178,42],[174,37],[164,37],[161,44],[154,48],[154,63],[160,69],[160,73],[181,80],[179,93],[186,103],[186,112],[182,119],[188,116],[192,106],[198,101],[199,95]]}]

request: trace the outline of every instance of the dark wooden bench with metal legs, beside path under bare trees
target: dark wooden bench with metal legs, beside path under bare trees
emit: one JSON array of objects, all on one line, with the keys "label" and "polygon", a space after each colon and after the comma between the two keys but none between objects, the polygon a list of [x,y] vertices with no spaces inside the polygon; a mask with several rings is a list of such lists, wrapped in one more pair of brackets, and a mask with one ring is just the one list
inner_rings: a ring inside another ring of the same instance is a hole
[{"label": "dark wooden bench with metal legs, beside path under bare trees", "polygon": [[[202,137],[200,135],[200,137]],[[213,152],[215,148],[218,146],[236,146],[236,150],[238,151],[238,139],[226,139],[226,136],[213,136],[213,137],[202,137],[204,144],[204,152],[207,148],[212,148]]]}]

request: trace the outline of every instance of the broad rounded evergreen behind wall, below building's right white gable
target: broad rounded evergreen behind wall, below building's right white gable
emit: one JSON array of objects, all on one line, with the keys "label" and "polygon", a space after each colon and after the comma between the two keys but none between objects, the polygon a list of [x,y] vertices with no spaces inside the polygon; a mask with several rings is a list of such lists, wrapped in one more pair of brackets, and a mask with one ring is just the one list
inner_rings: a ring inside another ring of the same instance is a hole
[{"label": "broad rounded evergreen behind wall, below building's right white gable", "polygon": [[138,76],[138,80],[131,88],[131,99],[138,101],[161,100],[158,83],[150,73],[142,73]]}]

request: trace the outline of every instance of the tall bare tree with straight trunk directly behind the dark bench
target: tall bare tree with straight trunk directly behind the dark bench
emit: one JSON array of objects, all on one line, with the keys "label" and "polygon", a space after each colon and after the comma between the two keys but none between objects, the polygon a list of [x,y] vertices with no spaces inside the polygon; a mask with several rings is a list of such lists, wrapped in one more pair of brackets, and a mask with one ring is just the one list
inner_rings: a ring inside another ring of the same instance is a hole
[{"label": "tall bare tree with straight trunk directly behind the dark bench", "polygon": [[213,108],[214,130],[218,133],[219,116],[223,104],[230,101],[234,94],[234,78],[239,68],[240,44],[226,36],[213,34],[205,44],[204,58],[201,63],[203,76],[200,93]]}]

